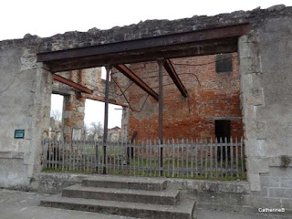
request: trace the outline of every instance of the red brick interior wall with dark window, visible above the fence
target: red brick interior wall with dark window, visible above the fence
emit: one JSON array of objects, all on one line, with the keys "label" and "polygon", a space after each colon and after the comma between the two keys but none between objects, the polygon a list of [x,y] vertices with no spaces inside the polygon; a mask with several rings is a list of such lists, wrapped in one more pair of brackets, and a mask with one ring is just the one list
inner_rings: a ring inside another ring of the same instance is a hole
[{"label": "red brick interior wall with dark window, visible above the fence", "polygon": [[[216,73],[215,56],[172,59],[189,98],[184,99],[169,76],[163,77],[163,136],[165,139],[213,138],[214,120],[208,117],[241,117],[237,54],[233,54],[233,72]],[[196,66],[188,66],[196,65]],[[158,93],[156,62],[132,64],[130,68]],[[163,75],[167,72],[163,69]],[[154,78],[147,78],[154,77]],[[171,84],[171,85],[168,85]],[[147,94],[133,85],[130,104],[141,110]],[[129,137],[137,130],[137,139],[158,138],[158,101],[149,97],[141,112],[130,111]],[[231,121],[233,137],[243,135],[242,120]]]}]

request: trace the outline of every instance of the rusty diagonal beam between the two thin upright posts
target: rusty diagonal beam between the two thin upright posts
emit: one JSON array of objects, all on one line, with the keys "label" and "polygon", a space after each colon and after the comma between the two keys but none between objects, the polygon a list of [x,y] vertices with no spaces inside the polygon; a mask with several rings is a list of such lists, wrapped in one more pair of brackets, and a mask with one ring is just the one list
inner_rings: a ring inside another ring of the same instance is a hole
[{"label": "rusty diagonal beam between the two thin upright posts", "polygon": [[141,78],[139,78],[135,73],[133,73],[129,68],[127,68],[125,65],[116,65],[113,66],[114,68],[117,68],[117,70],[120,71],[124,76],[129,78],[132,82],[134,82],[136,85],[138,85],[141,89],[143,89],[146,93],[148,93],[153,99],[158,100],[158,94],[151,89]]}]

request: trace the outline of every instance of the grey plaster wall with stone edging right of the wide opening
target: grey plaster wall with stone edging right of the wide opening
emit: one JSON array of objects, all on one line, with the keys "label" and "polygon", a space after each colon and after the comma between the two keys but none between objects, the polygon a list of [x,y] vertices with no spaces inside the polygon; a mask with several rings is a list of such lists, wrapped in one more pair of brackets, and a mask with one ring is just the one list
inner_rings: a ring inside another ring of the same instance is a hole
[{"label": "grey plaster wall with stone edging right of the wide opening", "polygon": [[239,39],[247,180],[255,205],[292,209],[292,18],[267,19]]}]

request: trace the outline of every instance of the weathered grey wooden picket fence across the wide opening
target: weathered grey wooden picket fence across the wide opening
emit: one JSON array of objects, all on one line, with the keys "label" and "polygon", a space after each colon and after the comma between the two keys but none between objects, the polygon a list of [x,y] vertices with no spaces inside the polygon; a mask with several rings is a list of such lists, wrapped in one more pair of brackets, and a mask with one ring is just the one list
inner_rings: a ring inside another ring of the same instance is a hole
[{"label": "weathered grey wooden picket fence across the wide opening", "polygon": [[[106,148],[106,157],[104,149]],[[43,170],[171,178],[245,180],[243,139],[219,141],[49,141]],[[106,159],[105,159],[106,158]],[[105,159],[105,160],[104,160]]]}]

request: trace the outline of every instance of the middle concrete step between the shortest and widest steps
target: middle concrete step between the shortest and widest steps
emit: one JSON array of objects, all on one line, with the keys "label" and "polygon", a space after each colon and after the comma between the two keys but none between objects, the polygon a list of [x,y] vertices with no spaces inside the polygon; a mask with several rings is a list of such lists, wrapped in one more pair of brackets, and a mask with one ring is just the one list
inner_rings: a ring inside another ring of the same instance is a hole
[{"label": "middle concrete step between the shortest and widest steps", "polygon": [[86,187],[75,184],[65,188],[62,195],[71,198],[99,199],[132,203],[157,203],[174,205],[180,199],[180,191],[145,191],[116,188]]}]

